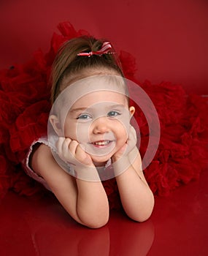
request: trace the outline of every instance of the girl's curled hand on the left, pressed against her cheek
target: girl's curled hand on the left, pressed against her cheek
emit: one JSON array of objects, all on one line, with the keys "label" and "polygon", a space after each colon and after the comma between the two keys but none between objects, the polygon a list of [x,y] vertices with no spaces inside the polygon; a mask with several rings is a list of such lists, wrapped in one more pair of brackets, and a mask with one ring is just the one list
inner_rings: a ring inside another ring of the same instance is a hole
[{"label": "girl's curled hand on the left, pressed against her cheek", "polygon": [[64,161],[76,167],[94,166],[89,154],[87,154],[77,140],[70,138],[58,138],[58,156]]}]

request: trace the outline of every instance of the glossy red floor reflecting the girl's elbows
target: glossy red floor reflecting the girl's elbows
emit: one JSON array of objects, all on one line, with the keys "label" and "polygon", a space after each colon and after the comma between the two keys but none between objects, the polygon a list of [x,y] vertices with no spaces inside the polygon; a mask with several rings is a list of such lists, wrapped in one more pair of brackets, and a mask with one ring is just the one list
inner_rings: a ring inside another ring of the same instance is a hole
[{"label": "glossy red floor reflecting the girl's elbows", "polygon": [[90,230],[54,199],[34,201],[9,192],[0,205],[0,255],[208,255],[208,172],[169,197],[156,197],[147,222],[113,211]]}]

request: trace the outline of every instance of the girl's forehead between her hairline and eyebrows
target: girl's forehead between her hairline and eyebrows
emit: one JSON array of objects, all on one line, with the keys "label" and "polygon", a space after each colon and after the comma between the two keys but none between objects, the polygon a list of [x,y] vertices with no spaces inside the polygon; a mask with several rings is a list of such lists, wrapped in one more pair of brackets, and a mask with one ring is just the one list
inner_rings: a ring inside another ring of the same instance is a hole
[{"label": "girl's forehead between her hairline and eyebrows", "polygon": [[124,105],[128,101],[126,96],[126,83],[122,77],[97,75],[67,86],[55,100],[53,109],[67,113],[74,105],[85,103],[82,107],[88,108],[97,102],[107,101]]}]

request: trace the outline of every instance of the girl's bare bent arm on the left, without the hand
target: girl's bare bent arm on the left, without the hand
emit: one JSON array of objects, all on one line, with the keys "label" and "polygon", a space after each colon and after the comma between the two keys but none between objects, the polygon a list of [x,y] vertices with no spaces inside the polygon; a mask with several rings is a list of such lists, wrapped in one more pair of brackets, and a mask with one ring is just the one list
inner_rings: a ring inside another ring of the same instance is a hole
[{"label": "girl's bare bent arm on the left, without the hand", "polygon": [[82,181],[70,176],[55,162],[50,148],[45,145],[34,152],[31,167],[45,179],[55,197],[77,222],[95,228],[107,223],[109,206],[101,181]]}]

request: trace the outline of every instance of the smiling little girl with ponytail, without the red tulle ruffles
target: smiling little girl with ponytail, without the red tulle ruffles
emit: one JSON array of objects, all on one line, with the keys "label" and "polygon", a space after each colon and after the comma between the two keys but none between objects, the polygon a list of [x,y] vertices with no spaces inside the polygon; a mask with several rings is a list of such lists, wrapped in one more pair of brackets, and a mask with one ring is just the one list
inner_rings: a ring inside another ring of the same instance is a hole
[{"label": "smiling little girl with ponytail, without the red tulle ruffles", "polygon": [[26,159],[26,172],[87,227],[102,227],[109,219],[99,176],[99,168],[107,165],[113,167],[128,217],[143,222],[153,211],[153,193],[142,173],[136,132],[130,125],[135,109],[128,103],[125,83],[113,82],[122,80],[123,71],[109,42],[83,36],[63,44],[52,70],[51,99],[56,107],[49,125],[58,138],[55,151],[49,138],[40,138]]}]

